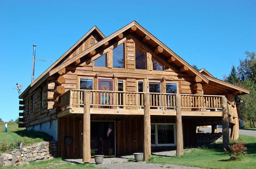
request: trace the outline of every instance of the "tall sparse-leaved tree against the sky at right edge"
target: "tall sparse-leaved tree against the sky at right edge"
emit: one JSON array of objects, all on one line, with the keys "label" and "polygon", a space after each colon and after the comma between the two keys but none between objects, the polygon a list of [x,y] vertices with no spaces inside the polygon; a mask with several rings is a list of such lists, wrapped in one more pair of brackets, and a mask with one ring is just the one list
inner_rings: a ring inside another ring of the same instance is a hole
[{"label": "tall sparse-leaved tree against the sky at right edge", "polygon": [[239,60],[240,65],[238,66],[238,75],[241,80],[246,80],[250,78],[254,82],[256,82],[256,58],[255,52],[245,52],[246,58],[245,60]]}]

